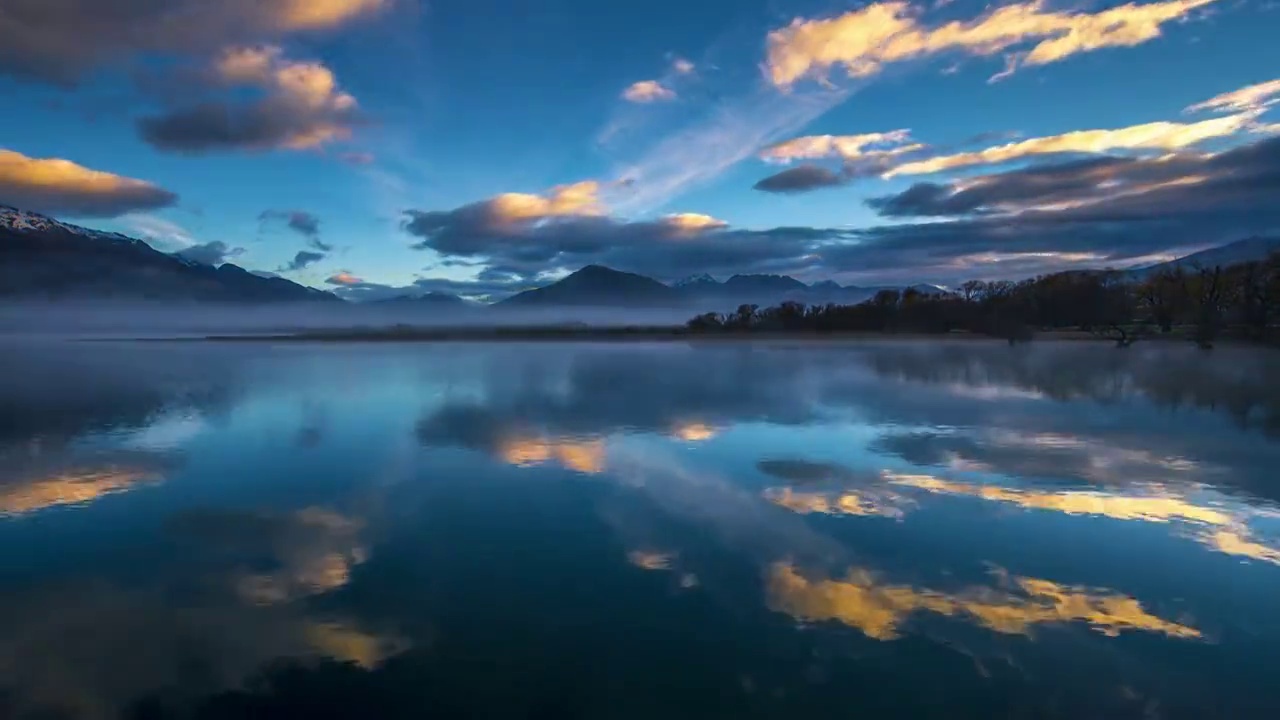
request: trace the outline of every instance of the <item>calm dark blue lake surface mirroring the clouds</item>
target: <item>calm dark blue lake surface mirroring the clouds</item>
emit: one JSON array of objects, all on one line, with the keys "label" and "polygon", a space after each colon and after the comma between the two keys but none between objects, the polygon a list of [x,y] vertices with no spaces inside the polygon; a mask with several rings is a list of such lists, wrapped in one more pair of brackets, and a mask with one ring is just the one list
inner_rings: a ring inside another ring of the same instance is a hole
[{"label": "calm dark blue lake surface mirroring the clouds", "polygon": [[0,352],[0,717],[1275,717],[1280,360]]}]

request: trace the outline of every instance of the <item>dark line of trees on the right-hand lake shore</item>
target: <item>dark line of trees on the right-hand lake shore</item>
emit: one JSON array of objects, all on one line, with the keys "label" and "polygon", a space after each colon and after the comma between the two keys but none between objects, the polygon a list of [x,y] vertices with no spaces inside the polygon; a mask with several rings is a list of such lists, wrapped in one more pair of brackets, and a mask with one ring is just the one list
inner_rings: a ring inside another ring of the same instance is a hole
[{"label": "dark line of trees on the right-hand lake shore", "polygon": [[1121,347],[1142,337],[1276,342],[1280,252],[1266,260],[1170,266],[1148,273],[1069,270],[1025,279],[970,281],[950,292],[883,290],[858,305],[742,305],[690,319],[692,333],[968,332],[1028,341],[1038,331],[1080,331]]}]

